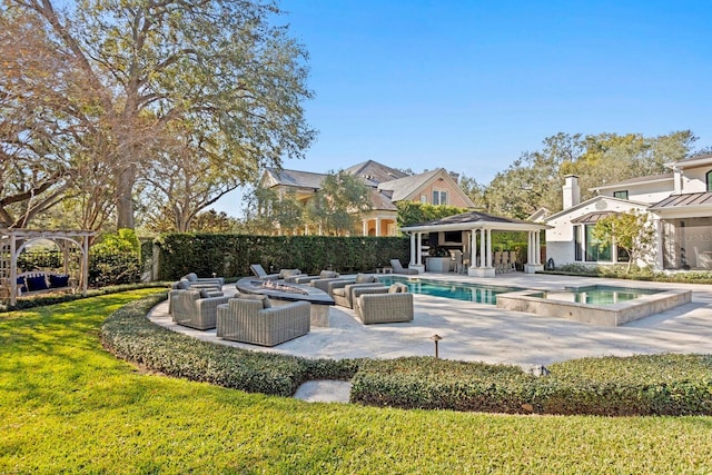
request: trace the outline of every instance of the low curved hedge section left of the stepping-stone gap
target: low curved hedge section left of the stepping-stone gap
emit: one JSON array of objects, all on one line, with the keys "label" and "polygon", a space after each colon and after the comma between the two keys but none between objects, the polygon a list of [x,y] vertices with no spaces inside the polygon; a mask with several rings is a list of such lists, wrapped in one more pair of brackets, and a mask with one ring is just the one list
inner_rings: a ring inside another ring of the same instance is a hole
[{"label": "low curved hedge section left of the stepping-stone gap", "polygon": [[312,379],[349,379],[356,372],[353,360],[307,359],[249,352],[200,342],[152,324],[146,315],[166,293],[123,306],[101,327],[108,350],[137,365],[169,376],[218,386],[291,396]]}]

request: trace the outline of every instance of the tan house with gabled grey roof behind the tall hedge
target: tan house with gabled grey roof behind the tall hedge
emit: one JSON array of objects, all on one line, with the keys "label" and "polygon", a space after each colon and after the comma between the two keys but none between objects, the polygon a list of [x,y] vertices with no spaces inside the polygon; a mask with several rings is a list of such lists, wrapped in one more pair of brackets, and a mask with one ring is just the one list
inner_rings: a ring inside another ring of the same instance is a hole
[{"label": "tan house with gabled grey roof behind the tall hedge", "polygon": [[[452,205],[474,208],[472,200],[459,188],[456,177],[444,168],[408,175],[374,160],[367,160],[346,168],[345,172],[358,177],[370,187],[370,206],[362,219],[362,236],[395,236],[397,234],[398,201],[417,201],[432,205]],[[259,186],[270,188],[278,196],[294,194],[306,205],[320,189],[326,174],[314,174],[287,169],[267,168]],[[304,230],[308,232],[307,229]]]}]

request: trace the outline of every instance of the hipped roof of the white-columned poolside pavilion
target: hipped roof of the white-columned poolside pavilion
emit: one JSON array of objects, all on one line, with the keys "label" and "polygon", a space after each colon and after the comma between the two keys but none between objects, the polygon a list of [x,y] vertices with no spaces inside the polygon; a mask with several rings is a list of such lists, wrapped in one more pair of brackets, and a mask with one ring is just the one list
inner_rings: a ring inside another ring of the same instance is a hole
[{"label": "hipped roof of the white-columned poolside pavilion", "polygon": [[503,231],[534,231],[548,229],[551,226],[521,219],[504,218],[481,211],[467,211],[442,219],[419,222],[400,228],[403,232],[435,232],[469,229],[496,229]]}]

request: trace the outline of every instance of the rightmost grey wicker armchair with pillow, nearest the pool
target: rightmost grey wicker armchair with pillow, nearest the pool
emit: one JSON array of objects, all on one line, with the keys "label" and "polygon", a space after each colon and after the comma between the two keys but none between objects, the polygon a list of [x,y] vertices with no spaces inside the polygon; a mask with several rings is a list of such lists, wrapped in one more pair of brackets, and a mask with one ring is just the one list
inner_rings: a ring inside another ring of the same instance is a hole
[{"label": "rightmost grey wicker armchair with pillow, nearest the pool", "polygon": [[413,321],[413,294],[404,284],[393,284],[387,294],[362,294],[355,301],[364,325]]}]

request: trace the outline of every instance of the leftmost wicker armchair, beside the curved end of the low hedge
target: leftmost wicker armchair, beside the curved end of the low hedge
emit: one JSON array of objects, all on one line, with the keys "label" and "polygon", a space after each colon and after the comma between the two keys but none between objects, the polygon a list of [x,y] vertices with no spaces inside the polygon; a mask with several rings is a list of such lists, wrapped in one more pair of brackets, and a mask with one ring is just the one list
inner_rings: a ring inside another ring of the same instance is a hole
[{"label": "leftmost wicker armchair, beside the curved end of the low hedge", "polygon": [[170,309],[174,321],[185,327],[207,330],[215,328],[218,305],[226,304],[229,297],[210,296],[207,289],[171,290]]}]

